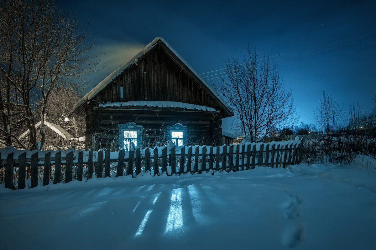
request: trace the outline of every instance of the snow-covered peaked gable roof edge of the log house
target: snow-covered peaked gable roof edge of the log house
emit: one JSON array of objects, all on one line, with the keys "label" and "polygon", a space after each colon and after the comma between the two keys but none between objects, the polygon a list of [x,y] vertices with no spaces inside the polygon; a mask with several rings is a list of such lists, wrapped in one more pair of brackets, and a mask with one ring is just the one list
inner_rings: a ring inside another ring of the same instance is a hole
[{"label": "snow-covered peaked gable roof edge of the log house", "polygon": [[117,70],[112,72],[109,76],[107,76],[103,81],[101,81],[96,87],[94,87],[89,93],[87,93],[84,97],[79,100],[79,102],[74,105],[73,110],[76,110],[79,106],[81,106],[86,101],[89,101],[93,99],[103,88],[105,88],[113,79],[115,79],[118,75],[120,75],[124,70],[126,70],[129,66],[131,66],[133,63],[138,62],[138,59],[145,55],[147,52],[149,52],[154,46],[161,41],[165,46],[167,46],[168,49],[170,49],[171,52],[173,52],[176,57],[182,61],[183,64],[185,64],[188,69],[202,82],[203,85],[205,85],[206,88],[211,91],[213,96],[218,99],[219,102],[223,104],[224,107],[226,107],[229,111],[232,112],[232,109],[230,106],[224,102],[220,96],[218,96],[217,92],[213,90],[213,88],[187,63],[187,61],[184,60],[184,58],[179,55],[176,50],[162,37],[156,37],[152,42],[150,42],[143,50],[141,50],[138,54],[136,54],[132,59],[130,59],[127,63],[125,63],[123,66],[119,67]]}]

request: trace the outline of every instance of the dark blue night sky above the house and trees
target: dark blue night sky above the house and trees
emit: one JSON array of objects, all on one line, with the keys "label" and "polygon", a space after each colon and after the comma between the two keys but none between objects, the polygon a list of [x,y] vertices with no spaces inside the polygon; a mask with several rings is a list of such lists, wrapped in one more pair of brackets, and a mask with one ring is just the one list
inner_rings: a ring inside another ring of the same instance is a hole
[{"label": "dark blue night sky above the house and trees", "polygon": [[[363,111],[376,95],[376,1],[57,1],[89,24],[102,49],[98,84],[155,37],[161,36],[198,73],[222,69],[247,44],[269,55],[293,91],[300,121],[323,90],[344,110],[356,99]],[[217,72],[203,74],[210,79]],[[86,93],[89,88],[86,89]],[[83,93],[83,94],[86,94]]]}]

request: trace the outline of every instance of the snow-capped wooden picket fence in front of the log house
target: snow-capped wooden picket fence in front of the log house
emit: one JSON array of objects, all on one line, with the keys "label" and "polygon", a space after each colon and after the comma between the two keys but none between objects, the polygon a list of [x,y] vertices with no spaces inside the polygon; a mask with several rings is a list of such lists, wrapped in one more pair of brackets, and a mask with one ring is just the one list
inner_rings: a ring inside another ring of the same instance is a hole
[{"label": "snow-capped wooden picket fence in front of the log house", "polygon": [[[164,172],[171,176],[188,172],[201,174],[203,171],[209,172],[210,170],[236,172],[253,169],[255,166],[285,168],[287,165],[300,163],[301,145],[302,141],[281,145],[281,147],[280,144],[277,144],[276,147],[275,143],[252,143],[218,147],[189,146],[179,147],[178,150],[175,146],[170,149],[167,146],[154,149],[145,148],[144,150],[136,148],[129,152],[124,150],[115,152],[116,159],[111,159],[112,153],[109,150],[76,150],[66,154],[64,151],[58,150],[54,152],[54,157],[51,157],[51,152],[48,152],[43,154],[43,157],[34,153],[31,158],[26,158],[25,150],[16,159],[14,159],[14,153],[9,153],[6,159],[2,159],[0,153],[0,169],[5,167],[6,188],[15,189],[16,174],[17,189],[23,189],[26,187],[26,172],[29,173],[30,188],[33,188],[38,186],[38,175],[39,180],[43,180],[43,185],[49,184],[52,172],[54,184],[63,179],[62,172],[65,172],[65,183],[72,181],[73,178],[82,181],[84,169],[87,179],[90,179],[93,174],[97,178],[111,177],[111,172],[114,173],[115,170],[116,177],[123,176],[124,172],[125,175],[136,177],[141,172],[147,171],[153,176],[162,175]],[[256,150],[257,147],[259,147],[258,150]],[[65,156],[62,156],[62,153]],[[85,160],[84,154],[87,156]],[[63,169],[64,171],[62,171]],[[73,169],[75,169],[74,173]]]}]

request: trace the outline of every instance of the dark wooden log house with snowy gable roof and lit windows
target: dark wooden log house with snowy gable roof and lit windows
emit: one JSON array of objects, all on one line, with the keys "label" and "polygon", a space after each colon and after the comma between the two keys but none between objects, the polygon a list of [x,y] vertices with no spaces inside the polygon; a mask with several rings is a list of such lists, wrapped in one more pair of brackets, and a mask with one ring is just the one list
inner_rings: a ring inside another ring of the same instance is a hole
[{"label": "dark wooden log house with snowy gable roof and lit windows", "polygon": [[[222,145],[231,108],[161,37],[106,77],[75,106],[86,117],[86,148]],[[107,145],[105,145],[107,144]]]}]

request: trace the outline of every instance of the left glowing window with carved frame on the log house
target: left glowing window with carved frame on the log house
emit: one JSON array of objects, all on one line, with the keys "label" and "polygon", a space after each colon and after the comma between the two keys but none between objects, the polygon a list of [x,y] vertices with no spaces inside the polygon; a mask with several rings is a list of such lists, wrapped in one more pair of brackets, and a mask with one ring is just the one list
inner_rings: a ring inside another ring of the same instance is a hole
[{"label": "left glowing window with carved frame on the log house", "polygon": [[139,147],[142,140],[142,126],[135,123],[119,124],[119,146],[129,151],[132,148]]}]

